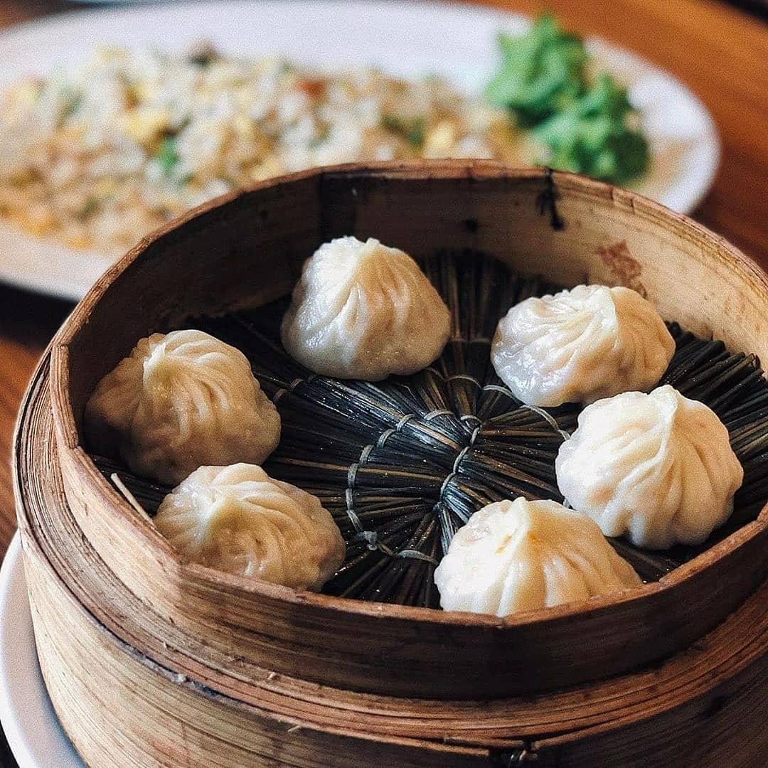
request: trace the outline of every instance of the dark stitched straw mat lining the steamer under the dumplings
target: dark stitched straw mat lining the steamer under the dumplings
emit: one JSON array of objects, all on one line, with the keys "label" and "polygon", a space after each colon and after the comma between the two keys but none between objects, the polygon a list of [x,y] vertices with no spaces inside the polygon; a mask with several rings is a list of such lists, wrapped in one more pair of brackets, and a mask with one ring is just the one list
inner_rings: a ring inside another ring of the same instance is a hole
[{"label": "dark stitched straw mat lining the steamer under the dumplings", "polygon": [[[445,298],[453,329],[442,356],[414,376],[376,383],[313,376],[280,344],[287,297],[194,324],[241,349],[280,410],[283,435],[266,472],[318,496],[346,539],[346,561],[326,591],[435,607],[434,562],[475,511],[518,495],[562,501],[554,477],[562,436],[521,407],[489,356],[496,323],[508,308],[559,286],[511,275],[472,250],[437,254],[422,269]],[[768,487],[768,384],[760,361],[698,339],[677,323],[669,327],[677,349],[660,383],[717,412],[745,474],[733,515],[703,545],[652,552],[609,539],[644,581],[657,581],[756,518]],[[549,410],[566,432],[578,411]],[[93,458],[107,478],[118,472],[154,515],[169,488]],[[404,550],[427,559],[392,556]]]}]

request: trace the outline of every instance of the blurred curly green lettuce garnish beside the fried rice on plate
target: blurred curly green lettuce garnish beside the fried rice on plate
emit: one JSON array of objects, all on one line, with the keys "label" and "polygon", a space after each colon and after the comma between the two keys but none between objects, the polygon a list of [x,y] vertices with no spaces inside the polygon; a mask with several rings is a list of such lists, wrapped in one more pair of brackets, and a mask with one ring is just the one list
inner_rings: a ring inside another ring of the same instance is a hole
[{"label": "blurred curly green lettuce garnish beside the fried rice on plate", "polygon": [[627,91],[609,74],[588,81],[581,38],[545,15],[526,35],[500,35],[499,46],[502,66],[486,96],[532,129],[549,151],[546,164],[616,184],[647,170],[647,141],[628,125]]}]

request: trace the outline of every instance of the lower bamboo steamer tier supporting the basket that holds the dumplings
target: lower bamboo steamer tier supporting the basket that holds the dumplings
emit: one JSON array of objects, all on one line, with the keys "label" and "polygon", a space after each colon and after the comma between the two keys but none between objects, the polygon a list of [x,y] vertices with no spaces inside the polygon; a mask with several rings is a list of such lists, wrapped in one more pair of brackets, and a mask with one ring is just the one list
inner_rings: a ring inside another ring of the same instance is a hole
[{"label": "lower bamboo steamer tier supporting the basket that holds the dumplings", "polygon": [[[91,766],[762,766],[768,581],[662,664],[499,700],[361,694],[200,660],[99,558],[68,507],[48,356],[15,438],[14,482],[38,656]],[[584,648],[584,652],[588,649]],[[755,725],[758,727],[755,727]]]}]

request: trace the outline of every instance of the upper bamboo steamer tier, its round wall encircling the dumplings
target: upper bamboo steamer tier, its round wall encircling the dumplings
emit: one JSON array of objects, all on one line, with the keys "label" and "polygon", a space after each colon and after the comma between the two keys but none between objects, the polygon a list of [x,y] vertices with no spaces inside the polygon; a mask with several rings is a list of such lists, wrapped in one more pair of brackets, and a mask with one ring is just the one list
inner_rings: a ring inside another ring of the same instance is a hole
[{"label": "upper bamboo steamer tier, its round wall encircling the dumplings", "polygon": [[415,256],[474,248],[562,284],[625,284],[694,333],[768,359],[768,280],[755,264],[687,218],[582,177],[478,161],[348,166],[195,210],[74,310],[51,348],[51,406],[78,534],[163,626],[184,629],[201,662],[405,697],[539,693],[687,647],[763,581],[768,508],[656,583],[503,620],[296,593],[180,558],[84,451],[89,394],[141,336],[283,296],[319,243],[349,233]]}]

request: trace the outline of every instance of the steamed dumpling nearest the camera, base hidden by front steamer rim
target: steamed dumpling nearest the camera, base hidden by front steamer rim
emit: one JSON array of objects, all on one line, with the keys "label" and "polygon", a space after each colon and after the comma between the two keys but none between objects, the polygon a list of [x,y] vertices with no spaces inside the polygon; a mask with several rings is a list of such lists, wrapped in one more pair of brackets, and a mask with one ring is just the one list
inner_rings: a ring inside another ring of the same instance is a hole
[{"label": "steamed dumpling nearest the camera, base hidden by front steamer rim", "polygon": [[445,611],[507,616],[641,584],[588,517],[557,502],[495,502],[459,529],[435,570]]}]

